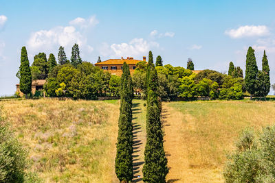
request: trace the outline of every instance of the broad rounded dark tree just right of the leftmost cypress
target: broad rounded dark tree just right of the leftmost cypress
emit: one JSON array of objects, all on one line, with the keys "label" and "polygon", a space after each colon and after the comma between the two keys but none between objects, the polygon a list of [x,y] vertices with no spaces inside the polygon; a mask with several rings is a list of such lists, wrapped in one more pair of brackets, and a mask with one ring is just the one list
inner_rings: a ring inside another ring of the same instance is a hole
[{"label": "broad rounded dark tree just right of the leftmost cypress", "polygon": [[41,73],[40,75],[38,75],[38,79],[45,80],[49,72],[46,54],[39,53],[36,56],[34,56],[34,62],[32,63],[32,66],[36,66]]}]

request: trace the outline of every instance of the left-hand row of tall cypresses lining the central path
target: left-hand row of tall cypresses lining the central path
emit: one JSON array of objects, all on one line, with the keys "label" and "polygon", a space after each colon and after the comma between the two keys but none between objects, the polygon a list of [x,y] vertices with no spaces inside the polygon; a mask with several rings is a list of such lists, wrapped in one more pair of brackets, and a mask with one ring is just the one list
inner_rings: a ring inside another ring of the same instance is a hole
[{"label": "left-hand row of tall cypresses lining the central path", "polygon": [[133,83],[129,65],[124,62],[120,83],[120,118],[118,120],[118,143],[115,157],[115,173],[120,182],[133,179]]}]

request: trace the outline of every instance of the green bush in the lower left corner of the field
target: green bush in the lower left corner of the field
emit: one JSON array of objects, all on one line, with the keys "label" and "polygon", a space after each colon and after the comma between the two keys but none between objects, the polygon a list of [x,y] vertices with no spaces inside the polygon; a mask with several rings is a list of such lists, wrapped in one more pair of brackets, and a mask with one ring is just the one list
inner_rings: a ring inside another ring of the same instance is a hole
[{"label": "green bush in the lower left corner of the field", "polygon": [[0,120],[0,182],[25,182],[26,157],[25,149]]}]

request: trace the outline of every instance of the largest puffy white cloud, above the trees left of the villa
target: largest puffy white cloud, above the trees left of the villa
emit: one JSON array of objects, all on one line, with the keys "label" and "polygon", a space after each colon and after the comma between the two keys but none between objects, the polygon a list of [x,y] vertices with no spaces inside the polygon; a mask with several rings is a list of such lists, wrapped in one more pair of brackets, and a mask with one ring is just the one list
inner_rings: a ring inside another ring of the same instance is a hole
[{"label": "largest puffy white cloud, above the trees left of the villa", "polygon": [[81,54],[91,53],[94,48],[87,45],[87,34],[85,34],[85,29],[83,28],[94,26],[97,23],[95,16],[91,16],[89,19],[78,17],[70,21],[69,26],[58,26],[33,32],[27,41],[30,55],[39,51],[56,53],[60,46],[65,47],[65,51],[69,54],[74,43],[77,43],[82,49]]}]

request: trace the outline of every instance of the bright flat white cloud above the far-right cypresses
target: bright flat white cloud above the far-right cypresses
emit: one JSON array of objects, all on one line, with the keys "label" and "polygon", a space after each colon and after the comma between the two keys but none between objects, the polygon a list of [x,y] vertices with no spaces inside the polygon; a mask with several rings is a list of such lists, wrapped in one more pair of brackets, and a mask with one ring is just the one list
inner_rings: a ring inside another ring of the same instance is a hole
[{"label": "bright flat white cloud above the far-right cypresses", "polygon": [[226,30],[225,34],[231,38],[243,38],[243,37],[253,37],[253,36],[267,36],[270,34],[270,30],[265,25],[245,25],[238,29]]}]

